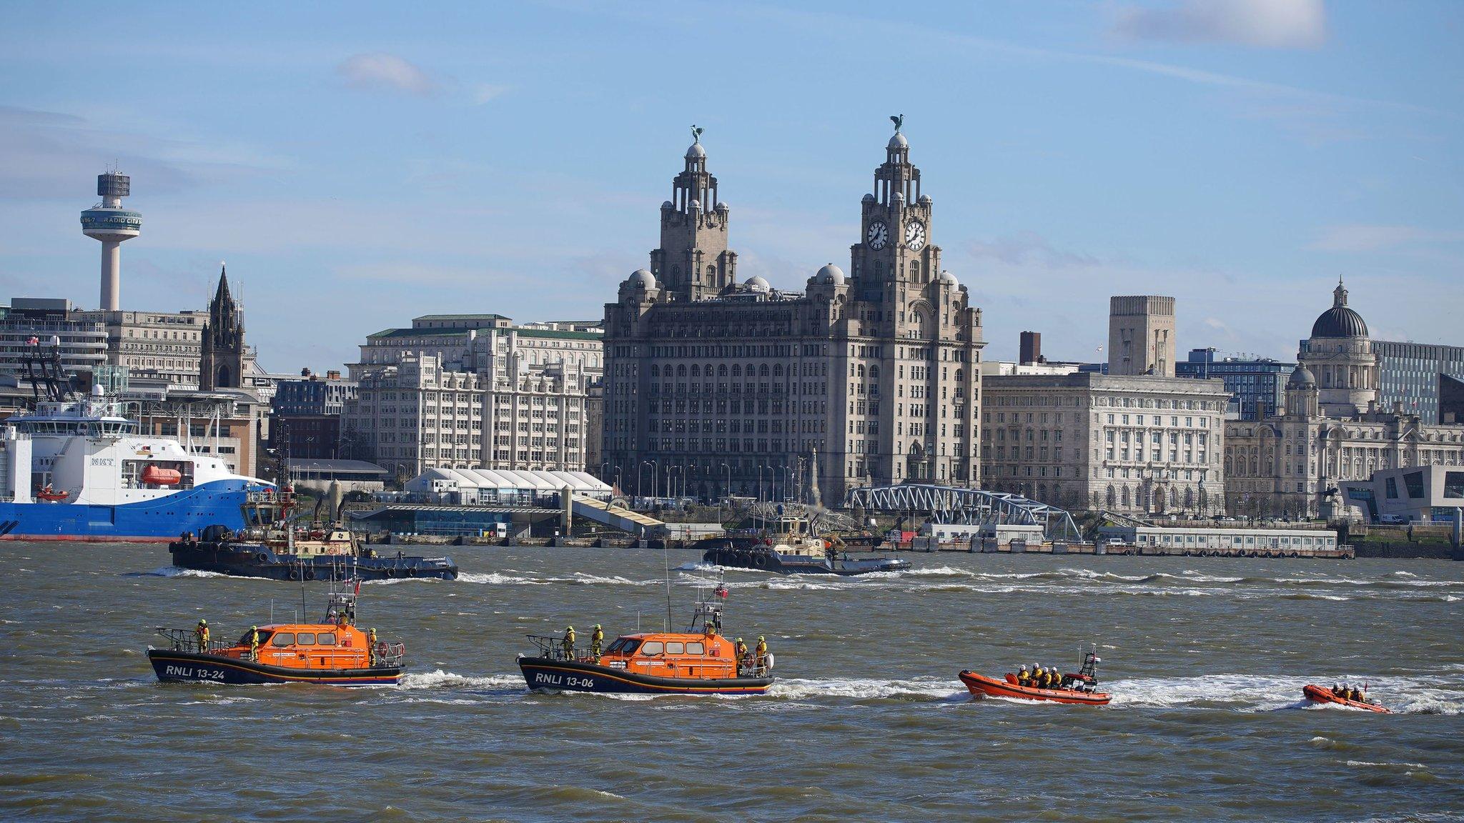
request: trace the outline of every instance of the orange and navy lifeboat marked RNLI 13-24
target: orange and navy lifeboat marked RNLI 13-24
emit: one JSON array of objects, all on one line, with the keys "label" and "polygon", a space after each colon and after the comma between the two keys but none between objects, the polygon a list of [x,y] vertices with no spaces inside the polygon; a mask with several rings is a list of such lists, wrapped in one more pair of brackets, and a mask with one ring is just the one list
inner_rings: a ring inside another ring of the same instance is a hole
[{"label": "orange and navy lifeboat marked RNLI 13-24", "polygon": [[205,631],[158,628],[168,644],[148,646],[148,660],[161,682],[395,685],[406,647],[376,640],[375,628],[356,627],[360,580],[350,583],[331,592],[322,622],[272,622],[227,644],[208,640]]}]

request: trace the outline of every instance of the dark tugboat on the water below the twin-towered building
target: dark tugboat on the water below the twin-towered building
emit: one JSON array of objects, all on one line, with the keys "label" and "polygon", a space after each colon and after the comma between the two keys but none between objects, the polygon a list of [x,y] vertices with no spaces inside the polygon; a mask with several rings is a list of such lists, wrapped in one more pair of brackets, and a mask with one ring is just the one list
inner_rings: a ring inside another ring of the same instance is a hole
[{"label": "dark tugboat on the water below the twin-towered building", "polygon": [[777,574],[870,574],[905,571],[909,561],[884,555],[851,555],[837,535],[817,537],[804,517],[782,514],[760,537],[714,537],[703,543],[704,562],[726,568],[757,568]]}]

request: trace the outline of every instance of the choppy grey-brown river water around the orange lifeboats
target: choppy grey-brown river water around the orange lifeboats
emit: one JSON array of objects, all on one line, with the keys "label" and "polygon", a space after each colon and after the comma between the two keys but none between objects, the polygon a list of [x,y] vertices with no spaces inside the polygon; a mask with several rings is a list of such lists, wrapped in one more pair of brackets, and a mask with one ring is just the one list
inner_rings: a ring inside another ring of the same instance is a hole
[{"label": "choppy grey-brown river water around the orange lifeboats", "polygon": [[[4,820],[1464,820],[1464,565],[911,555],[861,580],[729,571],[764,697],[526,694],[527,633],[665,614],[647,551],[457,548],[367,584],[398,688],[160,685],[152,627],[231,637],[297,586],[151,546],[0,545]],[[692,565],[672,554],[672,564]],[[309,596],[310,614],[322,589]],[[676,617],[691,590],[675,592]],[[1076,665],[1104,709],[972,701],[963,668]],[[1367,681],[1398,715],[1307,709]]]}]

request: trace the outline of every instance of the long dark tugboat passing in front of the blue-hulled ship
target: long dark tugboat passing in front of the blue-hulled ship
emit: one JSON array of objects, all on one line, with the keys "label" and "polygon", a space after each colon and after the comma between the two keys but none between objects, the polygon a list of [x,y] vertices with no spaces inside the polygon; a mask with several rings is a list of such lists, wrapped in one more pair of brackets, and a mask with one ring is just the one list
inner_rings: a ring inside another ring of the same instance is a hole
[{"label": "long dark tugboat passing in front of the blue-hulled ship", "polygon": [[184,533],[168,543],[173,565],[240,577],[271,580],[391,580],[430,577],[457,580],[452,558],[382,555],[338,524],[306,529],[291,521],[291,486],[249,492],[244,498],[244,529],[209,526],[195,537]]}]

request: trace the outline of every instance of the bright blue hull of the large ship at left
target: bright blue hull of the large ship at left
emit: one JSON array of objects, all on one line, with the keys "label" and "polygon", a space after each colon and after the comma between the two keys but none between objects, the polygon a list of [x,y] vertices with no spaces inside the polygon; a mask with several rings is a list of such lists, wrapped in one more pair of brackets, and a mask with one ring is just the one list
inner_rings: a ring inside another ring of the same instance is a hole
[{"label": "bright blue hull of the large ship at left", "polygon": [[[247,480],[214,480],[145,502],[0,502],[0,540],[163,543],[223,524],[243,529]],[[258,486],[256,486],[258,488]]]}]

